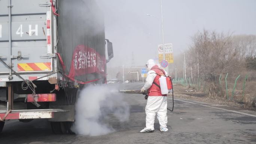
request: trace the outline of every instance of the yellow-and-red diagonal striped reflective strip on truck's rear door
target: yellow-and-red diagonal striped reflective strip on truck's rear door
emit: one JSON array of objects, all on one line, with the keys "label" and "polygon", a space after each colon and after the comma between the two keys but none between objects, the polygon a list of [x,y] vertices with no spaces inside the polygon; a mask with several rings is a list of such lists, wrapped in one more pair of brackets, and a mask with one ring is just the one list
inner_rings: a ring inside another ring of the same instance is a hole
[{"label": "yellow-and-red diagonal striped reflective strip on truck's rear door", "polygon": [[46,70],[51,70],[51,62],[18,64],[18,71],[46,71]]}]

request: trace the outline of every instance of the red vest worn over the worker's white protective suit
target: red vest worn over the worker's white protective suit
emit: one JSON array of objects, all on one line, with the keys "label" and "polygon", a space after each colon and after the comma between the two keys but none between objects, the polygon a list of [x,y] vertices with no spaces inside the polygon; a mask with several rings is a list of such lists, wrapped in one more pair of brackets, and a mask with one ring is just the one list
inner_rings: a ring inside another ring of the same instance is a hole
[{"label": "red vest worn over the worker's white protective suit", "polygon": [[[154,65],[151,68],[151,70],[155,71],[155,73],[156,73],[154,82],[160,86],[160,82],[159,82],[160,76],[159,75],[165,74],[164,70],[161,71],[161,69],[158,67],[158,65]],[[152,86],[147,91],[149,92],[149,96],[167,96],[167,95],[162,95],[161,89],[158,88],[158,86],[156,86],[154,83],[152,83]]]}]

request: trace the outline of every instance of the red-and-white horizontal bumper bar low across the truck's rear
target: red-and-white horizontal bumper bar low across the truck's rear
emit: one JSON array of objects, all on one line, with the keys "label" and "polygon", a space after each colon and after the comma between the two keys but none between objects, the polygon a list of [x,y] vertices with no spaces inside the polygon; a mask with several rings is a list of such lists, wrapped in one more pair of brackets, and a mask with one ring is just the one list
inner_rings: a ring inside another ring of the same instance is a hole
[{"label": "red-and-white horizontal bumper bar low across the truck's rear", "polygon": [[62,109],[39,109],[39,110],[12,110],[10,113],[8,111],[1,110],[1,119],[5,117],[5,120],[10,119],[49,119],[54,118],[54,113],[58,112],[68,112]]}]

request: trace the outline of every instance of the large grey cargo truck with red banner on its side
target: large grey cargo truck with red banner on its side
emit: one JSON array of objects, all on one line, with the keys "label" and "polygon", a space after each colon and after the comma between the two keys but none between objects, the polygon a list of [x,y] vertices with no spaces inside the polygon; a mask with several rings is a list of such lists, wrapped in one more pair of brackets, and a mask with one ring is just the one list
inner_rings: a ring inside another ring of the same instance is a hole
[{"label": "large grey cargo truck with red banner on its side", "polygon": [[6,120],[48,119],[74,134],[79,90],[107,83],[111,58],[95,0],[0,0],[0,132]]}]

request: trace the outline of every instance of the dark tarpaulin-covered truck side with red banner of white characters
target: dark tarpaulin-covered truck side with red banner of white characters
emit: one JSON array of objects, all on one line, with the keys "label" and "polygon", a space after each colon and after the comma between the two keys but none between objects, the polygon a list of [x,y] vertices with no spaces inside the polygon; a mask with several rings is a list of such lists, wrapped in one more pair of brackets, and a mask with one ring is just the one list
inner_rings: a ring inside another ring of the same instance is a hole
[{"label": "dark tarpaulin-covered truck side with red banner of white characters", "polygon": [[70,79],[106,80],[104,17],[95,0],[58,1],[58,53]]}]

